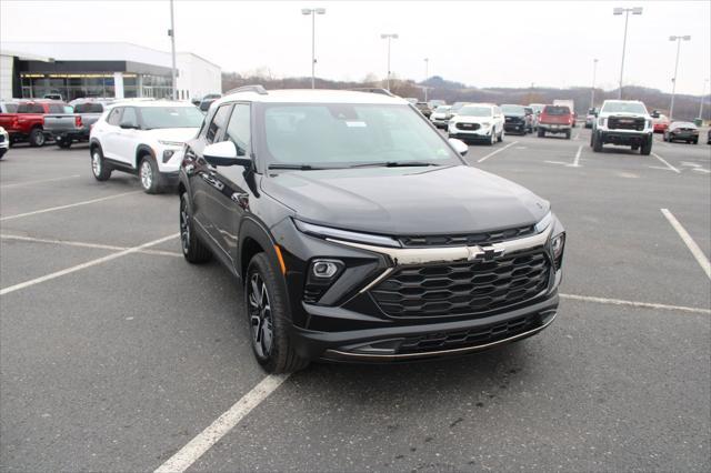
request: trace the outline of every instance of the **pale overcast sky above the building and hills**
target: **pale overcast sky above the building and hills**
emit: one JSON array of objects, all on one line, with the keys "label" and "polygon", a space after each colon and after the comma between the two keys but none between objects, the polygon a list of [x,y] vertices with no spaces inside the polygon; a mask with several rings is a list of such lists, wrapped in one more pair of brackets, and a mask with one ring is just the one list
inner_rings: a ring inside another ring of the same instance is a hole
[{"label": "pale overcast sky above the building and hills", "polygon": [[[269,68],[274,76],[311,74],[311,19],[317,17],[317,76],[361,80],[384,77],[387,43],[397,32],[392,71],[475,87],[589,87],[598,58],[598,85],[617,87],[624,18],[615,6],[641,6],[630,16],[625,84],[671,90],[681,44],[677,91],[700,94],[711,76],[711,1],[176,1],[176,42],[223,71]],[[170,50],[169,2],[0,2],[0,41],[130,41]],[[707,93],[709,92],[707,88]]]}]

